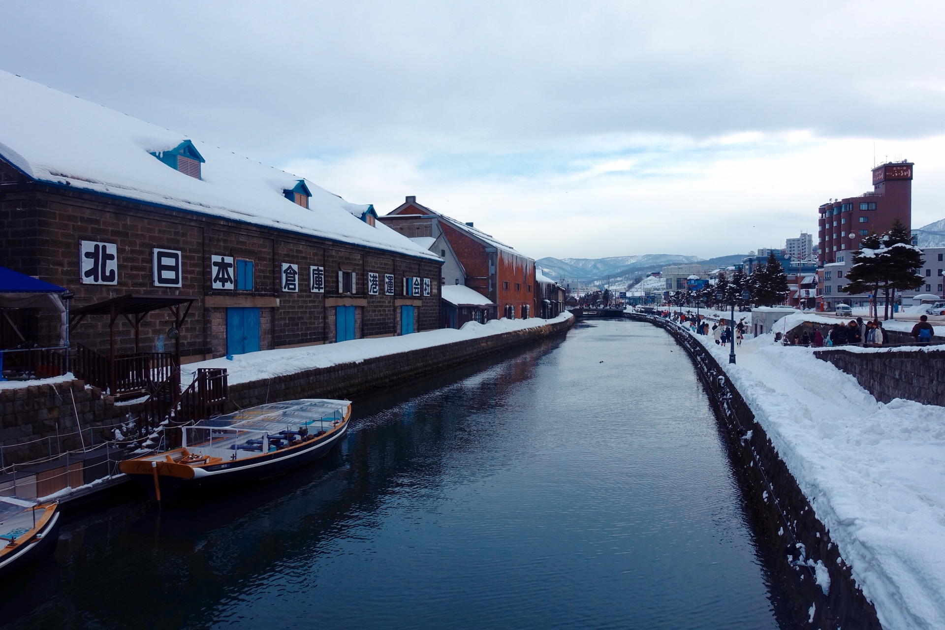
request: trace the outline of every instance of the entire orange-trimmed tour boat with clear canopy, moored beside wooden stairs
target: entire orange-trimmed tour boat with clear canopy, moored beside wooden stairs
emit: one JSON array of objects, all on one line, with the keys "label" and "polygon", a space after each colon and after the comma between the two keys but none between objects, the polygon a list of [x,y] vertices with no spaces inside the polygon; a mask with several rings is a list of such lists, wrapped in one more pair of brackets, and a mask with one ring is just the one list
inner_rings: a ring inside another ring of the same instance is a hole
[{"label": "entire orange-trimmed tour boat with clear canopy, moored beside wooden stairs", "polygon": [[190,491],[282,474],[325,455],[348,433],[351,402],[271,402],[181,427],[180,449],[119,464],[161,501]]}]

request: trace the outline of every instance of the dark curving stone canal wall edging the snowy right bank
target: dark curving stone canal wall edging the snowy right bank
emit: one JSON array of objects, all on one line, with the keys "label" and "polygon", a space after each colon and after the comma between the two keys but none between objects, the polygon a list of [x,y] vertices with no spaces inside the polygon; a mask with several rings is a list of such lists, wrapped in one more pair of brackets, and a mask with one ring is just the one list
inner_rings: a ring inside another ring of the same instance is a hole
[{"label": "dark curving stone canal wall edging the snowy right bank", "polygon": [[[764,547],[775,550],[771,560],[778,574],[772,577],[781,583],[796,619],[807,622],[799,627],[879,629],[875,608],[856,586],[830,533],[816,518],[797,480],[714,357],[689,332],[662,317],[637,314],[627,317],[669,332],[696,366],[728,438],[732,468],[743,486],[747,505],[760,524],[758,536],[763,538]],[[830,574],[826,595],[816,584],[814,568],[799,562],[799,558],[823,563]]]}]

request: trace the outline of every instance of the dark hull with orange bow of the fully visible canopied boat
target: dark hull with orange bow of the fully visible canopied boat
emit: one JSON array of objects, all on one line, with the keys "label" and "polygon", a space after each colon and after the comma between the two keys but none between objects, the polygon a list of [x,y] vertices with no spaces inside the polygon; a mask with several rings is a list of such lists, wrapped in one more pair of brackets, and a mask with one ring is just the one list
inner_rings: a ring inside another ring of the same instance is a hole
[{"label": "dark hull with orange bow of the fully visible canopied boat", "polygon": [[153,467],[157,474],[152,473],[152,468],[147,468],[151,466],[150,463],[142,462],[137,468],[132,468],[133,462],[129,460],[122,463],[122,470],[128,472],[135,483],[145,489],[152,501],[158,500],[156,477],[161,490],[160,500],[168,501],[186,494],[277,477],[324,457],[343,441],[346,434],[347,421],[324,439],[313,440],[311,445],[305,444],[291,450],[273,451],[258,457],[226,461],[206,467],[157,462]]}]

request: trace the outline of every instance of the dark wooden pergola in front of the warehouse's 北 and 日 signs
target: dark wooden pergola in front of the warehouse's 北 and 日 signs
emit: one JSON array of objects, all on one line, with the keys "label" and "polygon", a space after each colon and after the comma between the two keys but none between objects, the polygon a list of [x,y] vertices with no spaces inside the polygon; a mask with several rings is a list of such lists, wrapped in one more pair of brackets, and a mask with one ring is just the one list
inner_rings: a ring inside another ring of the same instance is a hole
[{"label": "dark wooden pergola in front of the warehouse's \u5317 and \u65e5 signs", "polygon": [[108,385],[112,394],[116,394],[115,378],[115,322],[119,317],[124,317],[134,329],[134,354],[136,358],[141,355],[141,322],[149,313],[167,309],[174,315],[174,331],[170,336],[174,339],[174,370],[177,384],[180,385],[180,327],[190,313],[190,308],[197,298],[187,298],[180,296],[147,296],[139,294],[129,294],[119,296],[118,298],[106,299],[105,301],[95,302],[88,306],[82,306],[74,309],[69,314],[69,330],[74,330],[79,323],[90,315],[107,315],[109,317],[109,356],[108,356]]}]

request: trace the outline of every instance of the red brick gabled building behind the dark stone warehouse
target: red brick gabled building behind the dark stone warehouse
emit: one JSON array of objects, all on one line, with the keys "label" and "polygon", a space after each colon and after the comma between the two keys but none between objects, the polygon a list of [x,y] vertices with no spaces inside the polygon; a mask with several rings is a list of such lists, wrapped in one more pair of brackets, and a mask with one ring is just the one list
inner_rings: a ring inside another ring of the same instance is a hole
[{"label": "red brick gabled building behind the dark stone warehouse", "polygon": [[[527,318],[541,314],[535,287],[535,261],[490,234],[476,230],[417,203],[408,196],[402,205],[378,221],[409,238],[433,238],[434,253],[454,255],[466,286],[498,305],[500,317]],[[442,246],[442,247],[441,247]]]}]

